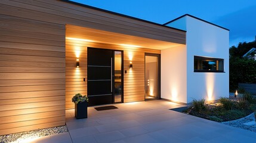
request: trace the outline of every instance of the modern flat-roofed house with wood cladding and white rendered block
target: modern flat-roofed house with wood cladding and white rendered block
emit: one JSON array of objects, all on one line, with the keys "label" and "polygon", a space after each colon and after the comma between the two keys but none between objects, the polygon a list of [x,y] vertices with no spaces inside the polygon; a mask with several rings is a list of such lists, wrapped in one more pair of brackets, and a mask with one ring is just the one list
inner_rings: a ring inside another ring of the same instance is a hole
[{"label": "modern flat-roofed house with wood cladding and white rendered block", "polygon": [[65,125],[90,105],[229,95],[229,30],[164,25],[70,1],[0,1],[0,134]]}]

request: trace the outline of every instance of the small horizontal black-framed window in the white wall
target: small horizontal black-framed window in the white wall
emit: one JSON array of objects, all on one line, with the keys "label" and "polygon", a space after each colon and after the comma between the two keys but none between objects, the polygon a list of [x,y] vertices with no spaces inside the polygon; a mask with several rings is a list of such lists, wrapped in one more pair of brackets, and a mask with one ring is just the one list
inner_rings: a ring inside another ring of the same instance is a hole
[{"label": "small horizontal black-framed window in the white wall", "polygon": [[224,60],[194,56],[194,72],[224,72]]}]

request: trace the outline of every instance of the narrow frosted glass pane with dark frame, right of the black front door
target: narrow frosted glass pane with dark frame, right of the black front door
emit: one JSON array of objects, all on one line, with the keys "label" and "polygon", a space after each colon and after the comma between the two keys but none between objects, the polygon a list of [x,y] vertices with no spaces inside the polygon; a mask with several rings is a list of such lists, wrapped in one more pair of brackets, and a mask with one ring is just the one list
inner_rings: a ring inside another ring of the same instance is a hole
[{"label": "narrow frosted glass pane with dark frame, right of the black front door", "polygon": [[145,100],[159,99],[159,54],[145,54]]}]

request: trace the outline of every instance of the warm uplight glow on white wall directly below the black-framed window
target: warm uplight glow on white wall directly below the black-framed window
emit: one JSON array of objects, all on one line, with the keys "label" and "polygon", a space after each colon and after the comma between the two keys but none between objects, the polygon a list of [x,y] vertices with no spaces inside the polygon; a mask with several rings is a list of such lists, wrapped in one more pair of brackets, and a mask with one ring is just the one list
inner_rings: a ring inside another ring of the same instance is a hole
[{"label": "warm uplight glow on white wall directly below the black-framed window", "polygon": [[212,101],[214,100],[214,73],[206,73],[205,74],[206,78],[205,78],[205,82],[206,82],[206,93],[207,93],[207,97],[206,100],[207,101]]}]

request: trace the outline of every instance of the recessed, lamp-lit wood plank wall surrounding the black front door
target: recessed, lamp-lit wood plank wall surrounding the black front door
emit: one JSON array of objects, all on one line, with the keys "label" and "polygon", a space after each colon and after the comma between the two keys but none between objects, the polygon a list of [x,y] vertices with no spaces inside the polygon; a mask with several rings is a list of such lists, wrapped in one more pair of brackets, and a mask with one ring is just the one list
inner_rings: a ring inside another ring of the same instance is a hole
[{"label": "recessed, lamp-lit wood plank wall surrounding the black front door", "polygon": [[[160,50],[146,48],[125,48],[106,43],[66,40],[66,109],[74,108],[71,98],[76,93],[87,94],[87,47],[124,51],[124,102],[144,101],[144,55],[145,52],[161,54]],[[76,51],[80,51],[80,66],[76,68]],[[132,70],[129,70],[129,56],[132,56]]]}]

